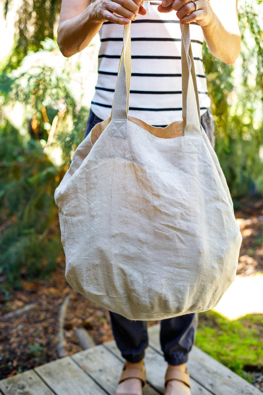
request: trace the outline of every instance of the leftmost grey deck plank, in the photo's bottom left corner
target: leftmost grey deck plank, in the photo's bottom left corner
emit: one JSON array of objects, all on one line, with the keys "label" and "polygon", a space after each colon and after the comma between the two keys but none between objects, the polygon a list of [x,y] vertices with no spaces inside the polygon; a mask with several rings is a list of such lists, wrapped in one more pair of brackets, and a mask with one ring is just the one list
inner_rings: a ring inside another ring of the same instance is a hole
[{"label": "leftmost grey deck plank, in the photo's bottom left corner", "polygon": [[54,395],[34,370],[28,370],[0,381],[4,395]]}]

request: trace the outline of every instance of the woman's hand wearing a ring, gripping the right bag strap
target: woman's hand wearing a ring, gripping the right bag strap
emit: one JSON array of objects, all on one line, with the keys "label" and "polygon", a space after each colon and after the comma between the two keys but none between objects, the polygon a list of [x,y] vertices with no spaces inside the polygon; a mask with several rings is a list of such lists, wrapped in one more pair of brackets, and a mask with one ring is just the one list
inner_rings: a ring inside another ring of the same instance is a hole
[{"label": "woman's hand wearing a ring, gripping the right bag strap", "polygon": [[159,12],[172,10],[177,11],[176,15],[182,24],[196,21],[207,27],[213,20],[213,10],[208,0],[163,0],[158,6]]}]

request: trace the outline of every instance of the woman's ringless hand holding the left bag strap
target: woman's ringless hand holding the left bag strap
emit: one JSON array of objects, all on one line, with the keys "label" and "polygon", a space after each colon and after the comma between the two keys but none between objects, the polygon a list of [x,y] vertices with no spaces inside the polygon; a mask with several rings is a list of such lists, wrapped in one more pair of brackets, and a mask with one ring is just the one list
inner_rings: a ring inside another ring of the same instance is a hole
[{"label": "woman's ringless hand holding the left bag strap", "polygon": [[98,22],[110,21],[126,25],[135,21],[137,14],[146,15],[142,0],[96,0],[92,7],[91,19]]}]

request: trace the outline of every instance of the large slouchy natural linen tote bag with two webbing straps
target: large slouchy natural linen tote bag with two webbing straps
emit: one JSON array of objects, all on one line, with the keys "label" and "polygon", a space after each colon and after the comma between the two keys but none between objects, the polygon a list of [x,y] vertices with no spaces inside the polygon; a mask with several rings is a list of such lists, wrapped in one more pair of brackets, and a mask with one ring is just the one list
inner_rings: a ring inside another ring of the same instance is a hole
[{"label": "large slouchy natural linen tote bag with two webbing straps", "polygon": [[182,30],[183,122],[128,117],[130,25],[111,118],[78,146],[55,191],[66,277],[132,320],[213,308],[236,273],[241,234],[218,158],[200,126],[189,26]]}]

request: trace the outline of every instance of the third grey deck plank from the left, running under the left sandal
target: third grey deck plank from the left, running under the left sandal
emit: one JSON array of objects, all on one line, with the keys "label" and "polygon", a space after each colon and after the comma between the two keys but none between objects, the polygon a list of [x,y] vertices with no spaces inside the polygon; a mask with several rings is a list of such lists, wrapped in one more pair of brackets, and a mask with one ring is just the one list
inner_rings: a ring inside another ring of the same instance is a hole
[{"label": "third grey deck plank from the left, running under the left sandal", "polygon": [[[96,383],[114,395],[122,371],[123,362],[103,345],[81,351],[72,358]],[[149,385],[144,387],[144,395],[158,395]]]}]

